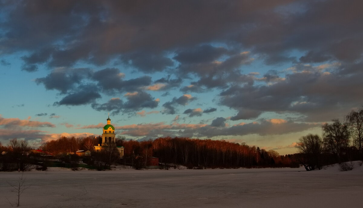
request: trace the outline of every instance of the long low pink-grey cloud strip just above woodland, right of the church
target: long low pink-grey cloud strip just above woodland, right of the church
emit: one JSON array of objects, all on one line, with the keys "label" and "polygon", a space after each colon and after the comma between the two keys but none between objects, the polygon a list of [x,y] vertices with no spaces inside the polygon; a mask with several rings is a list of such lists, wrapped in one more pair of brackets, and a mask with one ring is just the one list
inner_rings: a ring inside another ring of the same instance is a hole
[{"label": "long low pink-grey cloud strip just above woodland, right of the church", "polygon": [[[279,119],[276,119],[279,120]],[[243,136],[250,134],[281,135],[291,132],[299,132],[321,126],[320,123],[296,123],[293,121],[275,122],[276,120],[262,119],[260,122],[240,123],[240,125],[227,126],[223,117],[216,118],[211,125],[207,124],[179,124],[172,123],[167,125],[159,123],[141,123],[125,126],[117,126],[116,129],[122,130],[122,135],[129,136],[148,136],[157,138],[159,136],[188,136],[188,137],[207,137],[217,136]]]}]

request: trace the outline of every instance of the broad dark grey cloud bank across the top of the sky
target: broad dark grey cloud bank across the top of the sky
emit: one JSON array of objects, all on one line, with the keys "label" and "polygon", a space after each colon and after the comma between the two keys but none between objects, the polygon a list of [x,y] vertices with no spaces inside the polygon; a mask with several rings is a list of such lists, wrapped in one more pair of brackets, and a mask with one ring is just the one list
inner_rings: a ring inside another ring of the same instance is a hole
[{"label": "broad dark grey cloud bank across the top of the sky", "polygon": [[227,47],[210,42],[242,46],[268,63],[291,62],[293,49],[325,57],[303,62],[354,61],[363,48],[361,7],[360,0],[7,1],[0,45],[2,53],[28,51],[26,64],[102,65],[121,56],[143,72],[172,66],[169,51],[182,65],[226,53]]}]

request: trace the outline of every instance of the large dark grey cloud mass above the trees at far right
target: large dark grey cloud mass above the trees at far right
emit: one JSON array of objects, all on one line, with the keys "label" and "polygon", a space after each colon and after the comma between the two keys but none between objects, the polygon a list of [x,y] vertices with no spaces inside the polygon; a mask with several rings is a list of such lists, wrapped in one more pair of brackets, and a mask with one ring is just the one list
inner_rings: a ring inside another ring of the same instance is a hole
[{"label": "large dark grey cloud mass above the trees at far right", "polygon": [[305,121],[329,120],[331,112],[343,117],[349,106],[361,105],[363,74],[307,71],[287,74],[269,86],[233,86],[223,91],[221,103],[238,110],[231,120],[257,118],[263,112],[299,113]]}]

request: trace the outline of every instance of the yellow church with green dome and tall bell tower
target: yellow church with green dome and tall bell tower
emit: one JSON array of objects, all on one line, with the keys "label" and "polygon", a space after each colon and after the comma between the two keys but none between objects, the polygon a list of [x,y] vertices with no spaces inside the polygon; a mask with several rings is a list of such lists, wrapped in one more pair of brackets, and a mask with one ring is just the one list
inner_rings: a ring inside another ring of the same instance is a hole
[{"label": "yellow church with green dome and tall bell tower", "polygon": [[[94,149],[99,151],[102,150],[103,147],[112,143],[116,143],[116,134],[115,127],[111,125],[111,119],[109,116],[109,118],[107,118],[107,124],[102,129],[102,143],[98,144],[98,146],[94,146]],[[120,158],[123,158],[125,147],[117,146],[117,150],[119,152]]]}]

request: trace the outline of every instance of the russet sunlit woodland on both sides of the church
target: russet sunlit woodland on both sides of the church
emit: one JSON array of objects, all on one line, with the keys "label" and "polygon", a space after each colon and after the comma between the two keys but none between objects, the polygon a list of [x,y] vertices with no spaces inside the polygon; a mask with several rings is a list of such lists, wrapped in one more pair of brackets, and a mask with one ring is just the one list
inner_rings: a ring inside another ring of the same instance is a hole
[{"label": "russet sunlit woodland on both sides of the church", "polygon": [[[42,144],[40,148],[54,155],[77,150],[94,151],[93,147],[97,146],[101,139],[100,136],[61,137]],[[125,147],[121,163],[132,165],[142,163],[150,157],[159,158],[159,163],[164,165],[181,164],[190,167],[297,167],[299,161],[299,154],[280,156],[274,150],[266,151],[256,146],[225,140],[166,137],[139,142],[118,136],[116,146]]]}]

